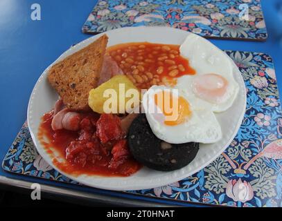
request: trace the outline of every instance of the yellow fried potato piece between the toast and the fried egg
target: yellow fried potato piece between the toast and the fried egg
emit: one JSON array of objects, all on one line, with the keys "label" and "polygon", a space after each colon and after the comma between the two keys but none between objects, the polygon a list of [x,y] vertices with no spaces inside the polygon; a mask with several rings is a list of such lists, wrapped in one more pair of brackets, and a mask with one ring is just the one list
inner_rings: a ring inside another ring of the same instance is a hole
[{"label": "yellow fried potato piece between the toast and the fried egg", "polygon": [[116,75],[90,90],[88,104],[96,113],[130,113],[139,105],[140,94],[125,75]]}]

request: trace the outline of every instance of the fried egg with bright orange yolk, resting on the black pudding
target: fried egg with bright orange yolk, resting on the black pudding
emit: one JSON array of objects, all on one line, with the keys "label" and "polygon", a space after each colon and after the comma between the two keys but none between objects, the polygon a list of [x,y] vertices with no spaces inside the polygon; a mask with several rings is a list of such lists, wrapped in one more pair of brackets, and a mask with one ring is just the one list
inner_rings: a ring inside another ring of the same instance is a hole
[{"label": "fried egg with bright orange yolk, resting on the black pudding", "polygon": [[178,88],[152,86],[142,99],[152,132],[170,144],[210,144],[222,138],[220,124],[209,109],[197,110]]}]

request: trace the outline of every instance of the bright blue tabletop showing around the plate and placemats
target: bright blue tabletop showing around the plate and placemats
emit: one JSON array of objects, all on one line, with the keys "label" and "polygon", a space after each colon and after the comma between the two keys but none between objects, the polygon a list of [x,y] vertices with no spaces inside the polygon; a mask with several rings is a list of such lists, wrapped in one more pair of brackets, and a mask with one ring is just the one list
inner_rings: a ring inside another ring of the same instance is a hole
[{"label": "bright blue tabletop showing around the plate and placemats", "polygon": [[[35,2],[41,6],[41,21],[30,19],[30,6]],[[26,120],[28,99],[38,77],[64,50],[90,37],[83,34],[81,28],[95,4],[95,0],[0,0],[1,161]],[[265,52],[271,55],[281,92],[282,13],[279,16],[279,7],[282,10],[282,0],[262,0],[262,7],[268,32],[266,42],[211,41],[224,50]],[[2,169],[0,175],[35,182],[31,177],[12,175]]]}]

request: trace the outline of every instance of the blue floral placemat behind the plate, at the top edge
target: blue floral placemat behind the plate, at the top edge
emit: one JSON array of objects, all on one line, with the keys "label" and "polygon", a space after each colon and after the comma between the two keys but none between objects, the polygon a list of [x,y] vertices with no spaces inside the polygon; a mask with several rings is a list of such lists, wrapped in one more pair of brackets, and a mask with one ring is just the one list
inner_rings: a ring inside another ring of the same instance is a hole
[{"label": "blue floral placemat behind the plate, at the top edge", "polygon": [[261,0],[99,0],[82,32],[168,26],[210,38],[265,41]]}]

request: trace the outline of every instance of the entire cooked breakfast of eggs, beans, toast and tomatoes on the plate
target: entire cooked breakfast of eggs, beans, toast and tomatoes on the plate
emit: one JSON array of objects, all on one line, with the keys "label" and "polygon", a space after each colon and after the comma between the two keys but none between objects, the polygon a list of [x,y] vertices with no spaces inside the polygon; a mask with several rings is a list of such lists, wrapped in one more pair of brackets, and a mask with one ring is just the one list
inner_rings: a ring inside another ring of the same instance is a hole
[{"label": "entire cooked breakfast of eggs, beans, toast and tomatoes on the plate", "polygon": [[216,113],[238,93],[236,67],[224,52],[192,34],[181,46],[106,46],[103,35],[49,70],[60,99],[38,136],[64,157],[53,162],[57,168],[107,176],[141,166],[174,171],[191,163],[201,144],[222,139]]}]

